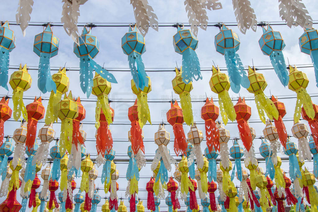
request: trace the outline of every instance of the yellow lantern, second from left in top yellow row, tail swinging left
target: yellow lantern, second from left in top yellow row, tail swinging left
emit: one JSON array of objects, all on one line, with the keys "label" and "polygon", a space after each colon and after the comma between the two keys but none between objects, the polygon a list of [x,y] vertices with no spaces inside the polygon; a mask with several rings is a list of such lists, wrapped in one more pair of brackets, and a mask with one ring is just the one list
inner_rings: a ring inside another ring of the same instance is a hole
[{"label": "yellow lantern, second from left in top yellow row, tail swinging left", "polygon": [[62,69],[59,68],[59,71],[52,75],[52,79],[56,85],[56,92],[51,91],[45,114],[45,125],[50,125],[51,122],[57,122],[59,113],[59,101],[62,98],[62,94],[65,94],[68,91],[68,87],[70,85],[70,80],[66,76],[65,67]]}]

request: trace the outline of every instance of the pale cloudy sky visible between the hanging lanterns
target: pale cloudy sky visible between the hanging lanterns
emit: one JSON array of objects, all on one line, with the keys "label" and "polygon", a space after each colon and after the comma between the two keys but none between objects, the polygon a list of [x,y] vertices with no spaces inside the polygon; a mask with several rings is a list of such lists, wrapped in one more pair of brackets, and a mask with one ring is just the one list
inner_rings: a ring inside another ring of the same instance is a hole
[{"label": "pale cloudy sky visible between the hanging lanterns", "polygon": [[[80,6],[80,17],[79,23],[134,23],[134,13],[132,6],[129,4],[128,0],[117,0],[117,1],[101,1],[101,0],[89,0],[84,5]],[[318,12],[315,10],[318,3],[315,0],[304,1],[309,14],[313,20],[318,19]],[[174,1],[153,1],[149,0],[149,4],[153,7],[159,23],[188,23],[187,13],[184,8],[183,0]],[[15,22],[15,15],[17,10],[18,0],[6,1],[2,4],[0,8],[0,13],[2,14],[2,21],[12,21]],[[31,22],[60,22],[62,5],[60,1],[35,1],[33,5],[33,11],[31,14]],[[222,10],[207,11],[209,22],[236,22],[232,3],[231,1],[222,1]],[[255,11],[258,21],[274,22],[281,21],[279,17],[278,1],[264,0],[264,1],[252,1],[252,8]],[[315,21],[314,21],[315,22]],[[314,24],[314,27],[317,25]],[[239,35],[241,45],[239,53],[243,65],[252,65],[256,67],[259,66],[271,66],[268,56],[263,55],[259,48],[258,40],[262,35],[261,27],[257,28],[257,31],[248,30],[244,35],[242,34],[236,26],[229,27],[237,32]],[[10,53],[10,67],[17,66],[20,63],[27,64],[28,67],[34,68],[38,67],[39,57],[33,52],[33,41],[34,36],[43,31],[41,26],[29,26],[26,29],[26,36],[23,37],[22,31],[19,26],[10,25],[10,29],[15,32],[17,37],[16,48]],[[79,58],[73,53],[73,40],[67,36],[63,27],[53,27],[53,33],[60,39],[59,40],[59,53],[57,56],[51,59],[52,67],[64,66],[66,63],[67,68],[79,67]],[[298,45],[298,38],[303,33],[301,27],[289,28],[286,25],[273,26],[274,31],[280,31],[286,47],[283,50],[284,57],[287,62],[289,60],[290,65],[298,64],[311,64],[311,59],[309,55],[306,55],[300,51]],[[79,31],[82,28],[79,27]],[[92,35],[97,36],[100,40],[100,52],[94,59],[100,65],[104,64],[108,70],[126,70],[128,71],[128,61],[127,55],[125,55],[121,50],[121,37],[128,31],[128,27],[95,27],[92,29]],[[202,69],[211,69],[213,62],[220,67],[225,67],[224,56],[215,51],[214,47],[214,36],[219,32],[217,27],[208,27],[206,31],[199,29],[198,39],[199,44],[196,50],[198,58],[200,60]],[[182,64],[182,56],[177,54],[173,49],[172,36],[176,33],[176,28],[173,27],[159,27],[159,31],[154,31],[149,29],[146,35],[146,52],[142,55],[143,62],[147,70],[171,70],[171,72],[147,72],[148,76],[151,78],[152,91],[149,93],[149,100],[162,100],[163,102],[149,103],[151,120],[153,125],[146,125],[143,128],[144,131],[144,144],[145,144],[145,154],[147,158],[153,158],[155,154],[156,144],[153,142],[154,133],[158,129],[158,124],[163,120],[167,123],[166,112],[170,108],[170,99],[179,99],[178,95],[173,92],[171,80],[175,77],[174,67],[176,63],[178,67]],[[300,65],[301,66],[301,65]],[[305,72],[310,79],[307,91],[309,94],[316,96],[317,87],[315,86],[315,75],[314,68],[300,68],[299,70]],[[9,70],[9,77],[14,69]],[[56,71],[52,71],[52,74]],[[263,73],[268,86],[265,90],[265,94],[270,96],[273,94],[278,96],[279,99],[285,103],[287,108],[287,114],[285,116],[285,125],[287,127],[287,133],[291,134],[291,127],[293,125],[294,116],[294,106],[296,103],[296,98],[283,99],[284,97],[296,97],[295,93],[290,91],[287,87],[281,85],[279,79],[277,78],[274,70],[259,70],[258,72]],[[32,87],[24,92],[24,97],[33,98],[34,96],[42,96],[44,99],[48,99],[50,93],[40,93],[37,87],[37,70],[30,70],[29,73],[32,76],[33,83]],[[130,88],[131,75],[130,72],[117,72],[111,71],[116,77],[118,84],[112,84],[112,91],[110,93],[109,99],[119,100],[124,99],[131,102],[125,103],[111,103],[111,106],[115,110],[114,125],[111,125],[111,131],[114,139],[114,150],[116,151],[116,158],[128,158],[127,147],[129,145],[127,134],[130,129],[130,122],[128,120],[128,107],[133,105],[135,100],[135,95],[132,93]],[[193,82],[193,90],[191,91],[192,100],[197,100],[197,102],[192,103],[194,121],[198,123],[198,128],[204,130],[204,121],[200,117],[201,107],[204,105],[204,100],[206,96],[214,99],[217,95],[213,93],[209,86],[209,80],[211,78],[212,72],[204,71],[202,72],[203,79],[200,81]],[[82,99],[82,104],[86,109],[86,119],[84,120],[84,130],[87,132],[86,147],[87,152],[96,155],[95,148],[95,102],[85,101],[86,95],[82,93],[79,87],[79,72],[70,71],[67,72],[70,77],[70,89],[74,97],[80,97]],[[10,86],[9,86],[10,87]],[[8,92],[0,88],[0,96],[5,96]],[[12,89],[9,88],[9,95],[11,95]],[[239,95],[241,97],[246,97],[247,99],[253,99],[253,94],[248,93],[246,89],[241,89],[239,94],[229,91],[230,96],[233,98],[233,103],[236,104]],[[27,105],[33,100],[25,99],[24,104]],[[95,96],[91,95],[89,100],[96,99]],[[199,101],[201,100],[201,101]],[[317,103],[317,97],[312,98],[314,103]],[[47,100],[43,101],[43,105],[47,106]],[[262,130],[265,125],[260,122],[259,116],[256,110],[256,105],[254,100],[247,100],[246,103],[252,107],[252,117],[250,126],[256,130],[257,136],[263,135]],[[218,103],[216,102],[216,105]],[[13,108],[12,100],[10,99],[10,107]],[[43,121],[38,124],[38,128],[43,126]],[[252,123],[253,122],[253,123]],[[115,125],[116,124],[116,125]],[[306,123],[307,124],[307,123]],[[5,122],[5,135],[12,135],[14,129],[20,126],[19,122],[14,122],[13,119]],[[189,126],[183,125],[185,133],[190,129]],[[60,124],[53,125],[54,130],[57,132],[56,135],[59,137]],[[237,129],[236,123],[228,123],[226,128],[230,130],[231,137],[239,137],[239,131]],[[172,127],[168,125],[166,127],[167,131],[170,132],[171,141],[168,147],[173,150],[173,131]],[[292,138],[293,141],[297,143],[297,140]],[[242,145],[241,141],[239,143]],[[53,146],[53,142],[51,146]],[[260,140],[254,140],[254,146],[256,153],[259,153],[258,147],[260,145]],[[229,147],[232,146],[232,140],[229,141]],[[205,142],[202,143],[202,150],[206,147]],[[173,152],[173,151],[171,151]],[[174,155],[174,153],[172,153]],[[283,155],[281,155],[283,156]],[[257,157],[261,157],[257,154]],[[286,156],[283,156],[286,157]],[[118,196],[124,198],[124,192],[127,186],[127,180],[125,179],[126,170],[128,164],[117,163],[117,169],[120,173],[120,179],[118,180],[119,188]],[[242,164],[244,167],[244,164]],[[263,167],[265,170],[265,164],[259,163],[259,166]],[[306,162],[306,167],[312,170],[312,162]],[[284,161],[282,167],[288,171],[288,161]],[[174,168],[170,174],[173,174]],[[142,168],[139,181],[139,197],[144,200],[144,206],[147,207],[147,192],[145,191],[145,186],[147,181],[151,176],[150,164],[147,164],[145,168]],[[101,168],[99,168],[99,176],[101,175]],[[42,179],[41,179],[42,180]],[[77,179],[77,188],[80,185],[80,179]],[[236,185],[239,185],[238,181],[235,181]],[[103,188],[100,182],[100,178],[95,181],[96,187]],[[40,189],[38,189],[40,191]],[[74,190],[77,193],[78,189]],[[19,192],[18,192],[19,193]],[[57,194],[58,192],[56,192]],[[104,191],[100,192],[101,197],[109,196],[105,195]],[[198,195],[197,195],[198,197]],[[20,200],[19,195],[17,198]],[[0,201],[3,201],[1,198]],[[104,204],[104,199],[101,200],[100,206]],[[128,207],[128,200],[125,200],[125,204]],[[181,201],[182,208],[185,209],[183,201]],[[161,201],[162,210],[167,210],[165,201]]]}]

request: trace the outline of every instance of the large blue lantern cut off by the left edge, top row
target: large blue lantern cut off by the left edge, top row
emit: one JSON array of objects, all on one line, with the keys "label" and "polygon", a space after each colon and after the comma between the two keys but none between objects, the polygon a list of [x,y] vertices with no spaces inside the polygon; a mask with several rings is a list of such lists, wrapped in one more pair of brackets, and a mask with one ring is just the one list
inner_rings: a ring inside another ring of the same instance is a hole
[{"label": "large blue lantern cut off by the left edge, top row", "polygon": [[8,90],[9,52],[16,47],[16,36],[6,21],[0,27],[0,86]]}]

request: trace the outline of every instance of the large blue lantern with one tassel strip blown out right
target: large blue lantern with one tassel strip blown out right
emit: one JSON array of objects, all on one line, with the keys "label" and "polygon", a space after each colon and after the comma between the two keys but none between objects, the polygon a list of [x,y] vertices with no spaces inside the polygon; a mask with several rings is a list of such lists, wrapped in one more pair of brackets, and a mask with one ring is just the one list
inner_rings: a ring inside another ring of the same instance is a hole
[{"label": "large blue lantern with one tassel strip blown out right", "polygon": [[79,62],[79,81],[80,87],[87,98],[91,95],[93,87],[93,71],[97,72],[108,82],[117,83],[113,74],[98,65],[93,58],[99,52],[99,41],[96,36],[91,34],[91,28],[87,31],[84,26],[82,35],[77,38],[78,44],[74,42],[73,52],[80,59]]}]

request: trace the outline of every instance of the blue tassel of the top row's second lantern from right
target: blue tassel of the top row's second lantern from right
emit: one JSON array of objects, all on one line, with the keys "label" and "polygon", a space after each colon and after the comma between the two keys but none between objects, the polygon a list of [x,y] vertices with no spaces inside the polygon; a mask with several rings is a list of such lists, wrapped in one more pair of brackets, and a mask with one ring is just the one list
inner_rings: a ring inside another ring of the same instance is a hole
[{"label": "blue tassel of the top row's second lantern from right", "polygon": [[284,86],[288,85],[289,76],[286,68],[286,63],[282,51],[274,50],[269,56],[273,68],[281,82]]}]

